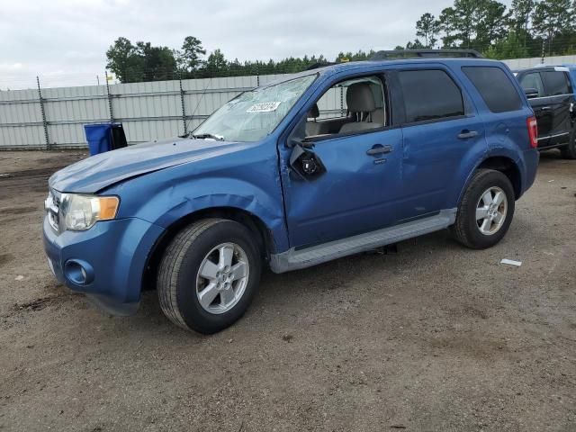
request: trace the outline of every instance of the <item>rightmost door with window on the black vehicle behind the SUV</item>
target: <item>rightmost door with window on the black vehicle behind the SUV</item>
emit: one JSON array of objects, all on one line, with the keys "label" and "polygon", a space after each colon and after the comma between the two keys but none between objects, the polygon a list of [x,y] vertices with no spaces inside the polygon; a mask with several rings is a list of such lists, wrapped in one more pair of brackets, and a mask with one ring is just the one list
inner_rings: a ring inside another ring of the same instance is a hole
[{"label": "rightmost door with window on the black vehicle behind the SUV", "polygon": [[[552,125],[548,145],[555,146],[568,142],[571,130],[572,85],[568,72],[563,70],[546,70],[540,73],[545,86],[545,106],[541,109],[551,113]],[[538,128],[540,124],[538,124]]]}]

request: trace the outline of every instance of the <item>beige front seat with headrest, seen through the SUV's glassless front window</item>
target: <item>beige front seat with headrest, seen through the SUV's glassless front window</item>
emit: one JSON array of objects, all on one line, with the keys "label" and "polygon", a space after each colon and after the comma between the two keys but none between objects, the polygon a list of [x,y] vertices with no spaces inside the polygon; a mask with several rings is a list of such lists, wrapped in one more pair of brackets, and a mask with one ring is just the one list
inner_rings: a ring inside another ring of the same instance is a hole
[{"label": "beige front seat with headrest, seen through the SUV's glassless front window", "polygon": [[374,94],[368,83],[350,85],[346,93],[346,103],[348,111],[356,117],[356,121],[342,125],[340,133],[383,128],[384,112],[382,108],[376,108]]}]

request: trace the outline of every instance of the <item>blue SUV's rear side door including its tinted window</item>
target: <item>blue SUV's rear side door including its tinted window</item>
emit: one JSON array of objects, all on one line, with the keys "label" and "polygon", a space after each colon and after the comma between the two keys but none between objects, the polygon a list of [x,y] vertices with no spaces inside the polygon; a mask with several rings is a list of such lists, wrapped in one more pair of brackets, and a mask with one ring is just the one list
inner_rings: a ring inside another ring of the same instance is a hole
[{"label": "blue SUV's rear side door including its tinted window", "polygon": [[402,216],[414,218],[451,208],[466,154],[487,145],[482,119],[447,67],[400,69],[397,77],[405,111]]}]

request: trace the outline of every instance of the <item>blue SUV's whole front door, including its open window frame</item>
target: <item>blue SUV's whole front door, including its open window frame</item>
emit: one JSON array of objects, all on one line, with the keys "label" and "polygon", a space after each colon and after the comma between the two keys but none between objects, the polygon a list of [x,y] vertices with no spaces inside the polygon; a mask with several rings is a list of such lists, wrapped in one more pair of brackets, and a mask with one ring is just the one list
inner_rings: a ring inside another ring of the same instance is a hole
[{"label": "blue SUV's whole front door, including its open window frame", "polygon": [[[383,76],[350,76],[327,87],[279,148],[293,247],[351,237],[399,219],[402,130],[390,126]],[[302,175],[296,165],[302,161],[291,164],[298,151],[294,135],[305,137],[302,146],[313,152],[321,173]]]}]

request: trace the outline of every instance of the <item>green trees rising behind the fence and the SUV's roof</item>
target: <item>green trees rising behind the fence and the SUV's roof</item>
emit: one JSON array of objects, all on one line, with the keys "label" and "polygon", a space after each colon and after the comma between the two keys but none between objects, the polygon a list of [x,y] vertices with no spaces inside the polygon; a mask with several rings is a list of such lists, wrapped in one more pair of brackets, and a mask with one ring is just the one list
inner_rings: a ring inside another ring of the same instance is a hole
[{"label": "green trees rising behind the fence and the SUV's roof", "polygon": [[[576,52],[576,0],[512,0],[510,9],[497,0],[454,0],[436,18],[422,14],[417,39],[395,49],[430,49],[442,40],[444,49],[477,49],[489,58],[539,57]],[[336,62],[362,61],[374,50],[340,52]],[[220,49],[206,57],[202,41],[187,36],[181,49],[132,44],[118,38],[106,51],[106,67],[122,83],[213,76],[291,74],[317,64],[324,56],[284,58],[279,61],[229,60]]]}]

